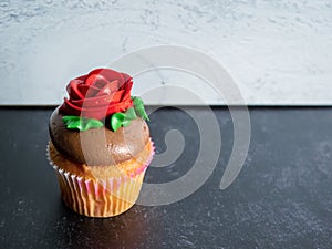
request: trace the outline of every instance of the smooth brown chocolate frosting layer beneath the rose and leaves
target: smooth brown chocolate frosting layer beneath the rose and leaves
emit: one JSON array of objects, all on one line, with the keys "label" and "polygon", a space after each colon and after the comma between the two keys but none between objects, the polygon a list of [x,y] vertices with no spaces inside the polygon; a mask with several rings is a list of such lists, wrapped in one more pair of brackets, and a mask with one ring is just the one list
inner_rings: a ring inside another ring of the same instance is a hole
[{"label": "smooth brown chocolate frosting layer beneath the rose and leaves", "polygon": [[51,115],[51,141],[64,157],[75,163],[89,166],[123,163],[139,154],[149,141],[148,126],[141,117],[116,132],[108,127],[80,132],[68,129],[62,116],[59,107]]}]

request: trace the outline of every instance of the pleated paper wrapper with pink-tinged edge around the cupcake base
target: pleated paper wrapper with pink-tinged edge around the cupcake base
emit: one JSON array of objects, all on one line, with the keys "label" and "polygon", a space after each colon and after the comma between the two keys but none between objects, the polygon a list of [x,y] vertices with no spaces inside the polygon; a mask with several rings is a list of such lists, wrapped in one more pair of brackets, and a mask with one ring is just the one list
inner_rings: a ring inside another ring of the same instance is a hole
[{"label": "pleated paper wrapper with pink-tinged edge around the cupcake base", "polygon": [[55,169],[63,201],[74,211],[89,217],[112,217],[128,210],[137,200],[144,175],[154,155],[152,152],[136,174],[91,179],[65,172],[55,165],[48,146],[48,159]]}]

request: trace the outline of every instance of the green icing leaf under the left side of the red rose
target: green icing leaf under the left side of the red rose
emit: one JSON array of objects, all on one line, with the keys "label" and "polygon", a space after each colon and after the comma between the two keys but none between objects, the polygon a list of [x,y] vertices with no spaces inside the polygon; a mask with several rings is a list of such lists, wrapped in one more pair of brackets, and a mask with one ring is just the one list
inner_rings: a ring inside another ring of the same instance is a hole
[{"label": "green icing leaf under the left side of the red rose", "polygon": [[62,122],[66,125],[66,128],[79,129],[81,132],[104,126],[103,122],[98,120],[80,116],[63,116]]}]

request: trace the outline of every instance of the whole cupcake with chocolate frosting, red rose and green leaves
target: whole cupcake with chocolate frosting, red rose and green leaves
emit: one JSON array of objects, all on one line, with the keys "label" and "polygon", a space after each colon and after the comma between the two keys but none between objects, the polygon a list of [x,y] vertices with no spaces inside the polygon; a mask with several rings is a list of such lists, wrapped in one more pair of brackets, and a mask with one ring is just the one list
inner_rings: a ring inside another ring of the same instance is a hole
[{"label": "whole cupcake with chocolate frosting, red rose and green leaves", "polygon": [[64,204],[89,217],[112,217],[138,198],[154,155],[133,79],[96,69],[66,86],[69,97],[52,113],[48,158]]}]

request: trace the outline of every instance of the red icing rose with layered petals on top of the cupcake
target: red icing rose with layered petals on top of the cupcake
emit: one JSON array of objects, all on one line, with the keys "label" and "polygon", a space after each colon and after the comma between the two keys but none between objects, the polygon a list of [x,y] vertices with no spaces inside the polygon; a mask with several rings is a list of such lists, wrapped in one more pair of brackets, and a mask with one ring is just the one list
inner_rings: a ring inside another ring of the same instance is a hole
[{"label": "red icing rose with layered petals on top of the cupcake", "polygon": [[93,70],[68,84],[69,98],[64,98],[60,111],[66,115],[102,120],[133,105],[132,86],[133,79],[125,73]]}]

